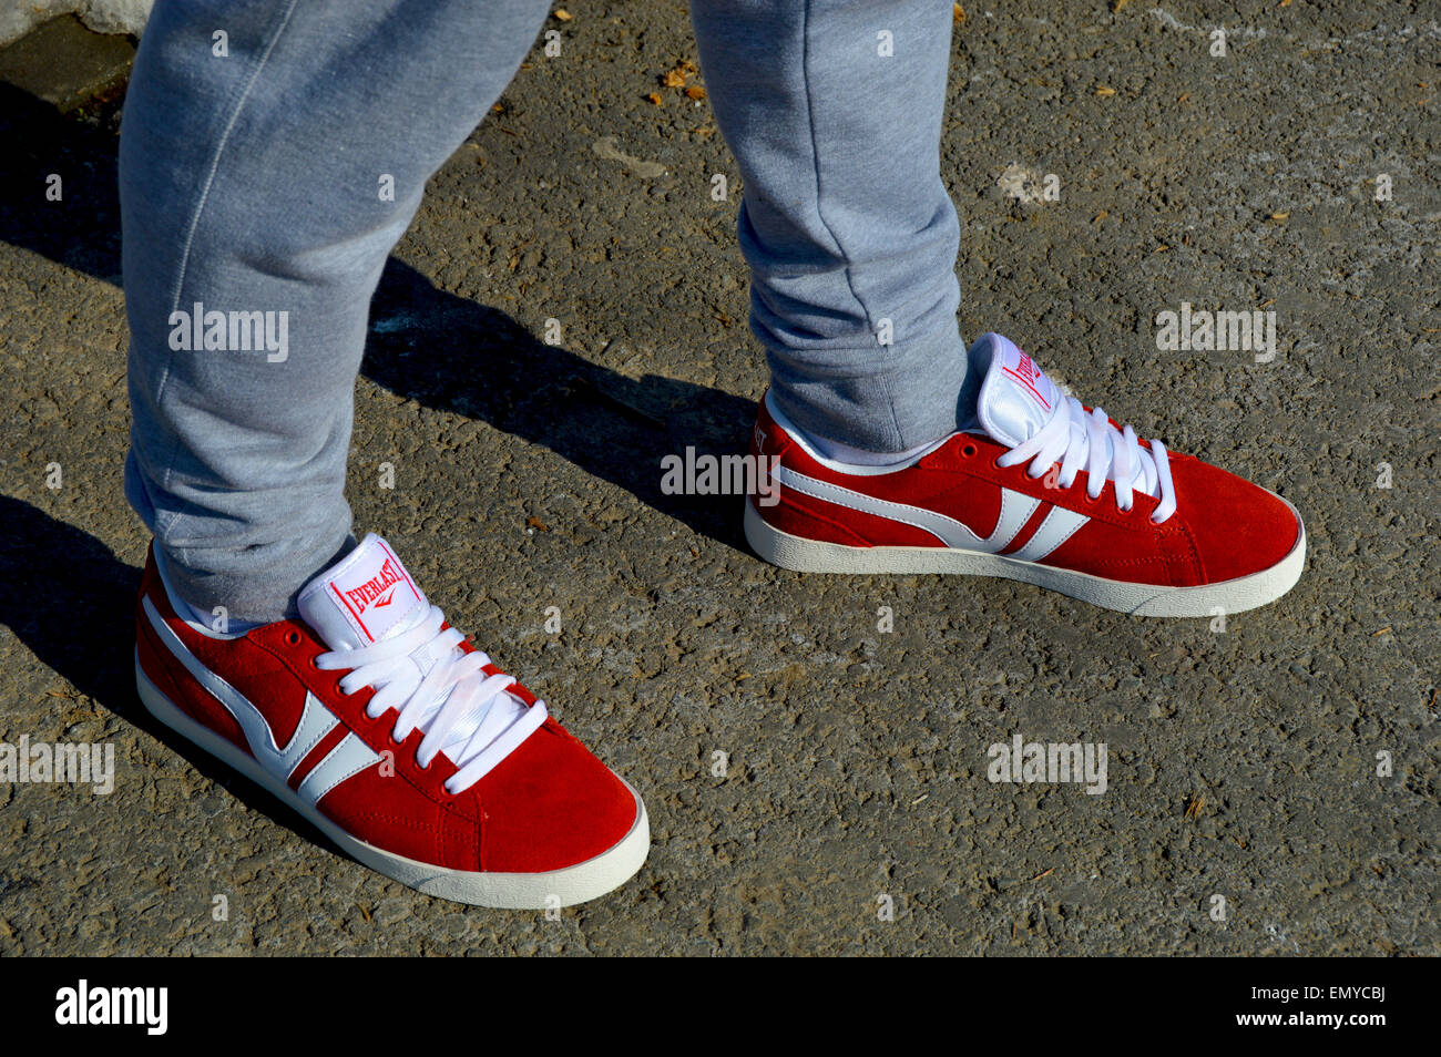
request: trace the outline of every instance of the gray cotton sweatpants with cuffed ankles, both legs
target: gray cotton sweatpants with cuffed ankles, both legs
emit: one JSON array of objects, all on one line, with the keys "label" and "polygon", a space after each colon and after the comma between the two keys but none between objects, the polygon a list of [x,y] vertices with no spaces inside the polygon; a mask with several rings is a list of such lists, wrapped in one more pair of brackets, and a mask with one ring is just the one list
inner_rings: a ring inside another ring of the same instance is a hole
[{"label": "gray cotton sweatpants with cuffed ankles, both legs", "polygon": [[[370,295],[546,12],[156,4],[120,151],[125,492],[196,608],[278,619],[343,546]],[[951,432],[965,377],[938,157],[951,4],[693,0],[692,14],[745,180],[751,324],[781,409],[876,452]]]}]

